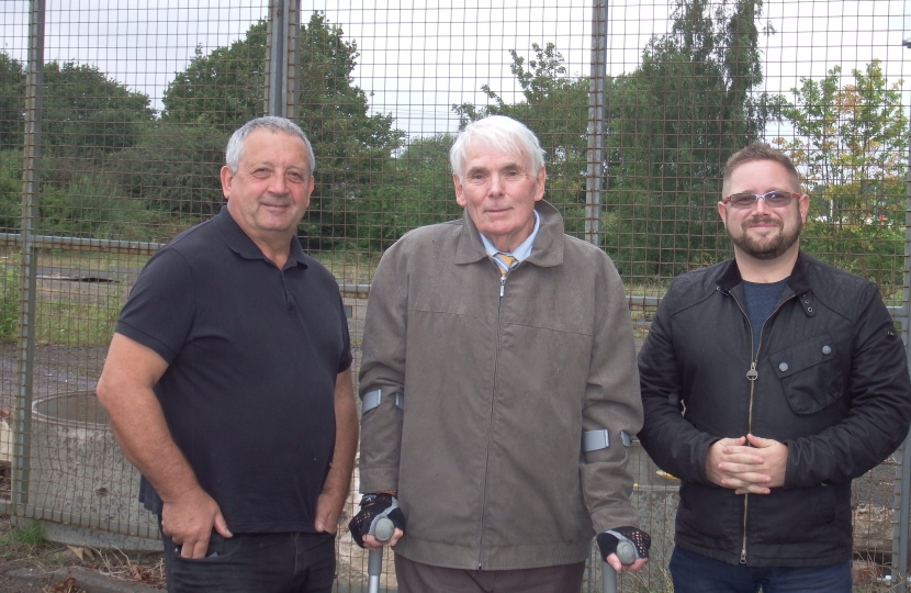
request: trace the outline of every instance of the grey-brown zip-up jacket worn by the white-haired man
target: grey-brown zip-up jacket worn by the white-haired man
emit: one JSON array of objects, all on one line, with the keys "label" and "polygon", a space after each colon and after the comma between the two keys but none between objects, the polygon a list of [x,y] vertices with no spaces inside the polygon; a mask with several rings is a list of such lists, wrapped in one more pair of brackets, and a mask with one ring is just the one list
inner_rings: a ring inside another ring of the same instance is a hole
[{"label": "grey-brown zip-up jacket worn by the white-haired man", "polygon": [[[502,282],[470,216],[383,255],[367,307],[360,490],[398,492],[396,553],[458,569],[580,562],[637,526],[620,432],[642,404],[623,287],[547,202],[531,255]],[[501,295],[502,294],[502,295]],[[393,393],[404,394],[404,410]],[[582,454],[584,430],[610,446]]]}]

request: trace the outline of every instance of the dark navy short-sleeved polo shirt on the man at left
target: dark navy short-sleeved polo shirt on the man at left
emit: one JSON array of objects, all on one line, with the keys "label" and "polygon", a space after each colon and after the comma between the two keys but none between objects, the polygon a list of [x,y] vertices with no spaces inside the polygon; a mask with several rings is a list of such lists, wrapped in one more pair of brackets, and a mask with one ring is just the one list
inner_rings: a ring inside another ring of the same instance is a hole
[{"label": "dark navy short-sleeved polo shirt on the man at left", "polygon": [[223,208],[149,259],[116,332],[168,362],[155,393],[228,528],[313,533],[351,353],[338,284],[297,239],[280,270]]}]

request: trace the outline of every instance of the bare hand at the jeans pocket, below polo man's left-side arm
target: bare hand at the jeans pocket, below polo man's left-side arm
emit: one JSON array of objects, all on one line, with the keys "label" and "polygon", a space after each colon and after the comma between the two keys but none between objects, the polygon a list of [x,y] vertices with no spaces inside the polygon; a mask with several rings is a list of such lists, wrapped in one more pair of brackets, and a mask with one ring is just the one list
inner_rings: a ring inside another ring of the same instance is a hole
[{"label": "bare hand at the jeans pocket, below polo man's left-side arm", "polygon": [[182,558],[205,558],[209,536],[215,529],[232,537],[218,503],[201,488],[188,490],[161,510],[161,530],[180,546]]}]

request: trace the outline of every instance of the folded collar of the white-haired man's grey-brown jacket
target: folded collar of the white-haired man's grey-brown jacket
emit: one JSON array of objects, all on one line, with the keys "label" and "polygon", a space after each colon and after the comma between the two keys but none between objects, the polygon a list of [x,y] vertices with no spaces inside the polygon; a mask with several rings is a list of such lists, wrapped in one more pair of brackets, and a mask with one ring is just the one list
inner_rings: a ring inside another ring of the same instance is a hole
[{"label": "folded collar of the white-haired man's grey-brown jacket", "polygon": [[[531,255],[525,260],[541,267],[560,266],[563,264],[563,217],[548,202],[540,200],[535,204],[535,211],[541,217],[538,236]],[[462,215],[462,230],[456,248],[456,264],[473,264],[487,257],[481,233],[469,216],[468,209]]]}]

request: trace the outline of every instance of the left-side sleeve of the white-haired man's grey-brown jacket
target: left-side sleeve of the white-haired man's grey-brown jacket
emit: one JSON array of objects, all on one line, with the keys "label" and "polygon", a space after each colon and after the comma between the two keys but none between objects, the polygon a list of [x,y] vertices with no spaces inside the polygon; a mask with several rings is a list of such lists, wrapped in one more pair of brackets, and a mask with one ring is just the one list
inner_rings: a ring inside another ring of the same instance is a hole
[{"label": "left-side sleeve of the white-haired man's grey-brown jacket", "polygon": [[398,490],[404,411],[392,395],[405,395],[408,279],[396,247],[380,260],[367,303],[360,396],[363,400],[379,389],[382,399],[361,417],[360,491],[364,493]]}]

